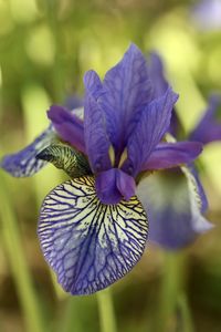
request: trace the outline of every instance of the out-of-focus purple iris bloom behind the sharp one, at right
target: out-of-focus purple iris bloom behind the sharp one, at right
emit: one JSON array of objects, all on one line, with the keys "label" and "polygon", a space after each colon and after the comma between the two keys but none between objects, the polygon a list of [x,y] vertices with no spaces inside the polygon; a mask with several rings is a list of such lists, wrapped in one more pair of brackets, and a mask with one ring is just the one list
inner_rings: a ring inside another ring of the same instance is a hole
[{"label": "out-of-focus purple iris bloom behind the sharp one, at right", "polygon": [[[167,82],[158,54],[150,55],[151,75],[155,76],[156,94],[164,93]],[[219,97],[210,100],[209,108],[188,141],[203,144],[221,139],[221,125],[214,120]],[[178,136],[180,122],[172,111],[169,132]],[[197,235],[209,230],[212,225],[203,217],[208,201],[193,164],[155,173],[141,181],[137,195],[149,217],[149,240],[168,250],[191,243]]]}]

